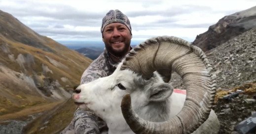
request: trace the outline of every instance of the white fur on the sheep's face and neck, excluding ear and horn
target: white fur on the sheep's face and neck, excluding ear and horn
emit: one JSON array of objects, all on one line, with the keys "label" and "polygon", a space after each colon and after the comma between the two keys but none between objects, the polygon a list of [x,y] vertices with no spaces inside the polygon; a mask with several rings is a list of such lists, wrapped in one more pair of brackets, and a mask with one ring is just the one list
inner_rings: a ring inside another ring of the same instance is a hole
[{"label": "white fur on the sheep's face and neck, excluding ear and horn", "polygon": [[[116,86],[118,83],[126,87],[126,90],[120,90]],[[183,94],[172,93],[163,101],[149,101],[150,87],[160,83],[164,82],[158,73],[151,79],[144,80],[130,70],[120,70],[119,65],[110,76],[80,85],[77,88],[81,90],[80,98],[75,101],[86,103],[88,108],[106,121],[109,134],[134,134],[125,122],[120,107],[121,100],[127,93],[131,95],[135,112],[145,120],[162,122],[181,111],[185,101]]]}]

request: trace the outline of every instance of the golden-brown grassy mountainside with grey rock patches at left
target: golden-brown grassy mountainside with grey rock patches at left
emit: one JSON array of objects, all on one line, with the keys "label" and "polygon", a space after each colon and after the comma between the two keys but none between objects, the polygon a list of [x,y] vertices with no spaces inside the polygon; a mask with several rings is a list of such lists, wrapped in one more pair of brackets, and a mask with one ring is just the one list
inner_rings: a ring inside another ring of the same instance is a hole
[{"label": "golden-brown grassy mountainside with grey rock patches at left", "polygon": [[0,116],[69,99],[91,62],[0,10]]}]

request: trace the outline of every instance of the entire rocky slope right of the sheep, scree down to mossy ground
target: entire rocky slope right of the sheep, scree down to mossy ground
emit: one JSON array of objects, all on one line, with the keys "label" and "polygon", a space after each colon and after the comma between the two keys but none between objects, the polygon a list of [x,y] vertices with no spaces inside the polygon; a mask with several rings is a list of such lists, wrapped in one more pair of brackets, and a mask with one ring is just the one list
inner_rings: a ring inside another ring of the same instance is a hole
[{"label": "entire rocky slope right of the sheep, scree down to mossy ground", "polygon": [[[242,33],[205,54],[217,75],[213,109],[220,121],[219,134],[239,134],[235,127],[256,112],[256,29]],[[171,84],[185,89],[177,73],[172,75]],[[237,94],[231,97],[234,93]],[[230,97],[225,99],[225,96]]]}]

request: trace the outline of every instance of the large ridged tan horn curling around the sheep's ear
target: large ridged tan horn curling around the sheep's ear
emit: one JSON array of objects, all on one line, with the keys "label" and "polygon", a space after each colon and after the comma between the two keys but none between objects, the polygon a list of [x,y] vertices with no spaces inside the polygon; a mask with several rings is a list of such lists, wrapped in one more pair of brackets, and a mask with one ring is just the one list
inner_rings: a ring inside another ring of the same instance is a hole
[{"label": "large ridged tan horn curling around the sheep's ear", "polygon": [[146,78],[158,69],[169,68],[181,75],[187,96],[179,114],[165,122],[138,117],[130,95],[121,103],[123,116],[136,134],[190,134],[208,118],[216,92],[216,75],[203,51],[174,36],[150,38],[135,47],[121,69],[130,69]]}]

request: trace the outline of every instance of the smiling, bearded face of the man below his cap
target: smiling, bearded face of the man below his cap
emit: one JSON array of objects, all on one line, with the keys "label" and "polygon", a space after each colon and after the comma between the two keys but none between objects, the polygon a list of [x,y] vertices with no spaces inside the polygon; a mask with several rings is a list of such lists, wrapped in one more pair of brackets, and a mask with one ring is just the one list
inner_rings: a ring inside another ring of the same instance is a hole
[{"label": "smiling, bearded face of the man below his cap", "polygon": [[106,49],[115,56],[122,57],[130,51],[131,33],[121,23],[110,23],[103,31]]}]

